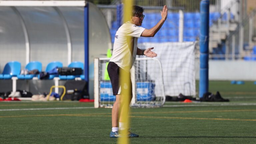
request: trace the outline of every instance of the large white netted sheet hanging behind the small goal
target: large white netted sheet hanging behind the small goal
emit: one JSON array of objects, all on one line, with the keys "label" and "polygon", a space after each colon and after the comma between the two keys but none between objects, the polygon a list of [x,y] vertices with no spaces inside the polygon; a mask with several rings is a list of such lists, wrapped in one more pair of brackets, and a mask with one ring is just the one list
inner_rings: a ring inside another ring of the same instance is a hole
[{"label": "large white netted sheet hanging behind the small goal", "polygon": [[195,46],[197,42],[140,43],[138,48],[154,47],[162,64],[166,96],[195,96]]}]

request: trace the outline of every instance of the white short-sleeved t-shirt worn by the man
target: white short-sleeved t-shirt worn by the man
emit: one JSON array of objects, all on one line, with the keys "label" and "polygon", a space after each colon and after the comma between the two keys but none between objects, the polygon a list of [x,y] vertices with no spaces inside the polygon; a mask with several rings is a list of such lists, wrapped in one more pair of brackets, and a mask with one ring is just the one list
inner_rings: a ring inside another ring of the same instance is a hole
[{"label": "white short-sleeved t-shirt worn by the man", "polygon": [[[130,71],[136,58],[138,38],[144,30],[145,28],[138,27],[131,22],[124,23],[116,32],[110,61],[122,69]],[[127,41],[127,36],[131,37],[130,42]]]}]

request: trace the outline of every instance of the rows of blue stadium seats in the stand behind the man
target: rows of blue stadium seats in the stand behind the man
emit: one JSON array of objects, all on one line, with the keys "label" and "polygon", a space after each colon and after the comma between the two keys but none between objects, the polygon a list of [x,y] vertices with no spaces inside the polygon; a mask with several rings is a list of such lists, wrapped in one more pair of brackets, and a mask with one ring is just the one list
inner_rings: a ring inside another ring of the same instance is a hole
[{"label": "rows of blue stadium seats in the stand behind the man", "polygon": [[[145,18],[142,23],[142,27],[150,29],[153,26],[157,24],[159,21],[159,13],[144,13]],[[183,37],[185,41],[194,41],[196,37],[199,37],[200,32],[200,13],[199,12],[186,12],[184,13],[184,33]],[[222,21],[227,21],[227,13],[224,13],[221,16],[221,13],[219,12],[211,12],[209,14],[209,26],[212,26],[215,21],[217,21],[219,18],[222,19]],[[234,15],[231,13],[231,19],[234,19]],[[117,30],[116,26],[117,22],[112,22],[112,29],[110,29],[112,43],[114,43],[114,32]],[[167,32],[164,32],[162,29],[164,29]],[[176,32],[171,32],[173,29],[176,29]],[[162,28],[159,30],[156,34],[156,38],[140,38],[138,40],[138,43],[143,42],[177,42],[177,38],[179,36],[179,13],[168,13],[167,20],[163,24]],[[193,29],[194,32],[191,32]],[[186,32],[188,31],[188,32]],[[166,37],[166,38],[163,38]],[[171,38],[169,38],[171,37]],[[185,38],[187,37],[187,38]]]}]

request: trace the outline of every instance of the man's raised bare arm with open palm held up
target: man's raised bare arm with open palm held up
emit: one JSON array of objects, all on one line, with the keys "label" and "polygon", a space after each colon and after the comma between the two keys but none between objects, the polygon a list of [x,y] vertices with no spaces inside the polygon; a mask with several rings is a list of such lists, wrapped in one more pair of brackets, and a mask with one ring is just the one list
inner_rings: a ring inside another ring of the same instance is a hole
[{"label": "man's raised bare arm with open palm held up", "polygon": [[167,12],[168,12],[168,9],[167,9],[167,6],[165,5],[163,7],[163,11],[161,11],[161,17],[162,19],[154,26],[152,27],[151,29],[145,29],[141,36],[143,37],[154,37],[155,34],[158,32],[158,30],[162,27],[162,25],[164,24],[166,18],[167,18]]}]

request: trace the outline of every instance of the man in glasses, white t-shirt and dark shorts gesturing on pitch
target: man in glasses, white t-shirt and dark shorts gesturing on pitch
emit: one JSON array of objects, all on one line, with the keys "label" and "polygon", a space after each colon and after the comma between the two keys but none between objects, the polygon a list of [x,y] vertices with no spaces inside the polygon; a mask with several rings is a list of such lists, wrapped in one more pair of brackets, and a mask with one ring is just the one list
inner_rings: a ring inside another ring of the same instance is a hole
[{"label": "man in glasses, white t-shirt and dark shorts gesturing on pitch", "polygon": [[[119,114],[122,106],[122,92],[125,91],[126,83],[122,86],[120,84],[120,72],[124,72],[127,77],[130,77],[130,69],[135,61],[136,55],[145,55],[147,57],[156,57],[157,54],[151,51],[152,48],[141,50],[137,47],[138,38],[142,37],[154,37],[161,26],[164,24],[167,18],[167,6],[163,7],[161,11],[161,20],[151,29],[145,29],[139,27],[145,17],[143,15],[144,9],[139,6],[132,7],[132,16],[130,21],[124,23],[116,32],[112,57],[110,58],[107,70],[112,84],[113,95],[116,96],[116,101],[112,108],[112,131],[110,132],[111,138],[117,138],[120,136],[118,130],[124,129],[124,123],[122,117]],[[130,37],[130,38],[127,38]],[[130,41],[129,41],[130,40]],[[129,79],[131,84],[131,79]],[[130,87],[132,91],[132,87]],[[123,92],[125,93],[125,92]],[[132,92],[131,92],[132,94]],[[129,96],[129,103],[131,102],[132,95]],[[119,123],[118,123],[119,122]],[[118,127],[119,125],[119,127]],[[129,137],[138,137],[139,135],[129,132]]]}]

